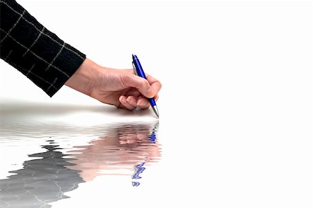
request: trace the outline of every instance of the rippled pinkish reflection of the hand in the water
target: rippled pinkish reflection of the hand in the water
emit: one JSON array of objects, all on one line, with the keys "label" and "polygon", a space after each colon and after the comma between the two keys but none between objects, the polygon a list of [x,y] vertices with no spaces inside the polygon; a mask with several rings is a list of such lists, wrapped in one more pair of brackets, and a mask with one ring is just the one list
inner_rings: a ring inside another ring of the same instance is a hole
[{"label": "rippled pinkish reflection of the hand in the water", "polygon": [[158,143],[150,142],[151,131],[152,126],[142,124],[109,127],[104,136],[90,145],[77,146],[83,150],[68,152],[81,153],[72,154],[76,157],[72,163],[76,165],[68,168],[80,170],[79,175],[85,181],[106,171],[114,174],[121,168],[133,172],[136,164],[157,161],[161,155]]}]

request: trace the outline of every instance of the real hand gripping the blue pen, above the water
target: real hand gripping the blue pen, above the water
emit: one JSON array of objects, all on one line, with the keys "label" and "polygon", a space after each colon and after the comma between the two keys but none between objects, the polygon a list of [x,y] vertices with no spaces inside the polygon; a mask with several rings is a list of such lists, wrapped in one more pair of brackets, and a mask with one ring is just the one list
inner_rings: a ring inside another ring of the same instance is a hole
[{"label": "real hand gripping the blue pen, above the water", "polygon": [[150,103],[146,97],[157,100],[161,83],[145,75],[147,80],[136,76],[134,70],[102,67],[86,58],[65,85],[118,108],[147,109]]}]

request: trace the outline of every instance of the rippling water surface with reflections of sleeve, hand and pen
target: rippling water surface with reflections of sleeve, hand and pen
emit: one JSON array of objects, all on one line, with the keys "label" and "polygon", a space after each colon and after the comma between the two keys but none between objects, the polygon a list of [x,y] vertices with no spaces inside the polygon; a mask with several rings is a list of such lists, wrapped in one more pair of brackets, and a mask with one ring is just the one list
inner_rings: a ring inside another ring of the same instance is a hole
[{"label": "rippling water surface with reflections of sleeve, hand and pen", "polygon": [[[32,108],[1,108],[1,163],[3,156],[10,163],[1,171],[0,207],[51,207],[100,175],[128,178],[136,189],[142,173],[161,159],[159,122],[68,125],[58,119],[61,111]],[[19,150],[27,152],[24,161]]]}]

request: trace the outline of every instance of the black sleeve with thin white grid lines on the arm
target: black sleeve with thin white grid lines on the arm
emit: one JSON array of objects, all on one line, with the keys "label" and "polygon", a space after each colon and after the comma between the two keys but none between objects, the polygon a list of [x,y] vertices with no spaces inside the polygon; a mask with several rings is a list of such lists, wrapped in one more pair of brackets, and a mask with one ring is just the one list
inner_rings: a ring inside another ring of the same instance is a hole
[{"label": "black sleeve with thin white grid lines on the arm", "polygon": [[86,55],[48,31],[16,1],[0,0],[0,14],[0,58],[54,95]]}]

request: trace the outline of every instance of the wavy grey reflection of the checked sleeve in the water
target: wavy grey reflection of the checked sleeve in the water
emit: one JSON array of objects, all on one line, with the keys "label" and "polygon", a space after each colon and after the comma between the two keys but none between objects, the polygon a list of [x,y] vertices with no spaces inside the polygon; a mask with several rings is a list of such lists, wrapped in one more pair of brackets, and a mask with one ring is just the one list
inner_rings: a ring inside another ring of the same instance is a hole
[{"label": "wavy grey reflection of the checked sleeve in the water", "polygon": [[[24,161],[24,167],[12,170],[6,179],[0,179],[0,207],[51,207],[48,203],[68,198],[65,192],[78,188],[83,183],[75,159],[66,159],[58,152],[58,145],[44,145],[47,152],[30,154],[32,159]],[[7,205],[7,206],[6,206]]]}]

